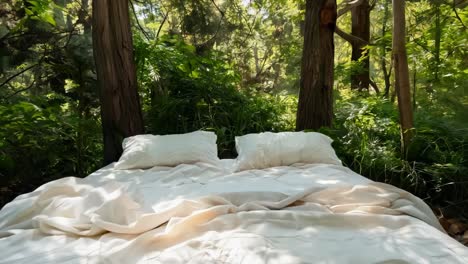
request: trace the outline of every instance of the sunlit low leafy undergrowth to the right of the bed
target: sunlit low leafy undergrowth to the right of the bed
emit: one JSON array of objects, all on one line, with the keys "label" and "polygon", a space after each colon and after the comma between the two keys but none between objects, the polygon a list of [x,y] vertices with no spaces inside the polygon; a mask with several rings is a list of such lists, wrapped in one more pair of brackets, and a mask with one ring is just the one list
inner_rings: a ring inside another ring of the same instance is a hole
[{"label": "sunlit low leafy undergrowth to the right of the bed", "polygon": [[[430,108],[429,106],[425,106]],[[406,189],[433,205],[468,214],[468,125],[432,110],[415,113],[415,137],[400,153],[398,112],[389,100],[342,93],[332,129],[344,164],[376,181]]]}]

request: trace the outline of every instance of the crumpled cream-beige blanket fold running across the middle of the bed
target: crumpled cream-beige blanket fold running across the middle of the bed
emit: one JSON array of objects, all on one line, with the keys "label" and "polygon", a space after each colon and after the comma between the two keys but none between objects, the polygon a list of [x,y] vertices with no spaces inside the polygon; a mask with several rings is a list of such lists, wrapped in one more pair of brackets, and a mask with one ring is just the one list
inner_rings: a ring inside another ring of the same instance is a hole
[{"label": "crumpled cream-beige blanket fold running across the middle of the bed", "polygon": [[[7,205],[0,212],[0,230],[33,229],[43,233],[96,236],[105,232],[141,234],[172,219],[205,221],[228,213],[287,209],[302,203],[304,210],[331,213],[406,214],[443,231],[430,208],[420,199],[384,183],[312,187],[293,195],[278,192],[233,192],[161,201],[144,207],[138,194],[118,182],[93,186],[86,179],[65,178]],[[17,207],[23,210],[18,212]],[[298,208],[296,208],[298,210]]]}]

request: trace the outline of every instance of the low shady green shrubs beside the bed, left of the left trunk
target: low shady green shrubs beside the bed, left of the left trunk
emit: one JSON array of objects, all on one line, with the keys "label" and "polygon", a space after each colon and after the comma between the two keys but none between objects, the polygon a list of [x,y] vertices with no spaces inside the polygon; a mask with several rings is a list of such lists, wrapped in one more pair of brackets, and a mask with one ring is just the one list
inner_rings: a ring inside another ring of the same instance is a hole
[{"label": "low shady green shrubs beside the bed, left of the left trunk", "polygon": [[70,103],[35,101],[0,106],[1,185],[85,176],[99,167],[98,122],[78,119]]}]

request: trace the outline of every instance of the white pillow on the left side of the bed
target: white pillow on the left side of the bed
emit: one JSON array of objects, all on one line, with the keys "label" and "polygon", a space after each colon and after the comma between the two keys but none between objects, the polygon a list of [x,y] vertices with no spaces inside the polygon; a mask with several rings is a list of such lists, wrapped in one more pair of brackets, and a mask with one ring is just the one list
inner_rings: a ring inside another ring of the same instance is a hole
[{"label": "white pillow on the left side of the bed", "polygon": [[175,135],[137,135],[122,142],[123,154],[116,169],[176,166],[195,162],[218,164],[216,134],[195,131]]}]

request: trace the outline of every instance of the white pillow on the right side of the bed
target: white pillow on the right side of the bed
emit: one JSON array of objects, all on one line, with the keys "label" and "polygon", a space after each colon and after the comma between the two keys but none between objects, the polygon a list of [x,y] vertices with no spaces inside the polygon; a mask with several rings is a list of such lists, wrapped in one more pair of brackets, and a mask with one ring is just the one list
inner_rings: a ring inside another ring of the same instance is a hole
[{"label": "white pillow on the right side of the bed", "polygon": [[333,140],[316,132],[265,132],[236,137],[237,170],[288,166],[293,163],[341,165]]}]

